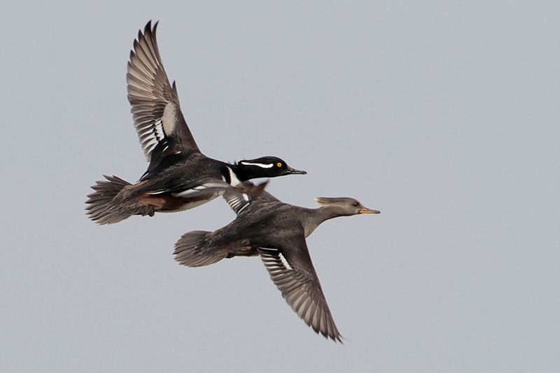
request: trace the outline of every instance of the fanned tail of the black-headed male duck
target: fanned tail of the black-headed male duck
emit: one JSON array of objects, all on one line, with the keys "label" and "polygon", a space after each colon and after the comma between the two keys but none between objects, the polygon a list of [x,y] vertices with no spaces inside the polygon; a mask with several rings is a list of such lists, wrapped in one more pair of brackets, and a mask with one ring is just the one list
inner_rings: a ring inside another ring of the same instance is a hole
[{"label": "fanned tail of the black-headed male duck", "polygon": [[93,193],[87,195],[86,214],[97,224],[113,224],[132,215],[153,216],[153,206],[126,204],[116,199],[125,187],[132,185],[118,176],[106,176],[107,181],[97,181],[92,186]]}]

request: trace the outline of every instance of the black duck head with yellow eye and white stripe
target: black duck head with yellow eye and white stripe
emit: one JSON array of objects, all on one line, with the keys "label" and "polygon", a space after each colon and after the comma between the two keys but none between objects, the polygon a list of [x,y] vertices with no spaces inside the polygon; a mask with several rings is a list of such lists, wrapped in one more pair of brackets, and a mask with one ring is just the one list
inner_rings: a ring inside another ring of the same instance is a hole
[{"label": "black duck head with yellow eye and white stripe", "polygon": [[237,175],[239,180],[251,178],[274,178],[284,175],[304,175],[306,171],[293,169],[279,157],[260,157],[254,160],[240,160],[237,162]]}]

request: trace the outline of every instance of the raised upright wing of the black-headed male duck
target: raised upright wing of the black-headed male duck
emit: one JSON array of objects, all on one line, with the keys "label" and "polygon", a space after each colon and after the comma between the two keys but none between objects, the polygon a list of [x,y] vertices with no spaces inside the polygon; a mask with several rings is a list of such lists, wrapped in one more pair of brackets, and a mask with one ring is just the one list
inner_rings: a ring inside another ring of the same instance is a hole
[{"label": "raised upright wing of the black-headed male duck", "polygon": [[173,153],[200,151],[181,113],[175,82],[169,85],[163,68],[155,38],[157,28],[158,22],[152,28],[150,21],[144,33],[138,32],[127,67],[128,101],[148,161],[153,153],[168,149]]}]

